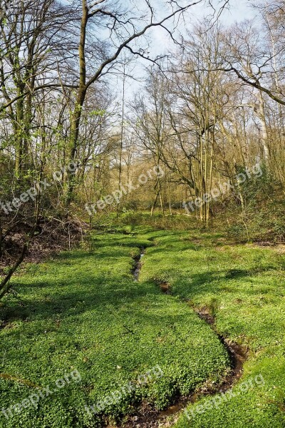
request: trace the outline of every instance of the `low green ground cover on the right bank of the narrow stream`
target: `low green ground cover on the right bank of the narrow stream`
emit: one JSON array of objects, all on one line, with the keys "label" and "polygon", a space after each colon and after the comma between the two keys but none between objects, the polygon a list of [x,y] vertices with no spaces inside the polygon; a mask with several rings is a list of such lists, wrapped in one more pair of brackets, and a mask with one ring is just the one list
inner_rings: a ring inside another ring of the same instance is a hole
[{"label": "low green ground cover on the right bank of the narrow stream", "polygon": [[[206,307],[219,334],[249,349],[234,396],[219,394],[217,405],[204,397],[175,427],[284,427],[284,248],[227,245],[222,234],[195,231],[157,232],[156,243],[147,249],[141,279],[169,282],[172,295]],[[257,376],[264,382],[250,383]]]}]

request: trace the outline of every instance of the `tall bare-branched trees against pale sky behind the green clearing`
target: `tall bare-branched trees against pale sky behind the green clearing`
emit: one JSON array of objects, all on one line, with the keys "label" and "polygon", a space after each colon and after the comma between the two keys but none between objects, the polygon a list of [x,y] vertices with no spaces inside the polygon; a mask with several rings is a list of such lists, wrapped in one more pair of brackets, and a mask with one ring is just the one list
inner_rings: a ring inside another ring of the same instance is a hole
[{"label": "tall bare-branched trees against pale sky behind the green clearing", "polygon": [[[189,215],[205,225],[226,219],[248,238],[264,228],[283,239],[285,2],[252,1],[256,18],[228,28],[216,19],[228,1],[217,1],[212,19],[195,26],[185,15],[189,5],[171,3],[166,20],[149,1],[142,9],[113,0],[2,6],[0,257],[11,271],[35,235],[64,235],[70,244],[76,225],[110,212],[187,214],[183,203],[234,183],[257,163],[261,176]],[[183,19],[187,31],[178,36]],[[150,58],[147,31],[157,24],[176,43],[171,54]],[[138,58],[148,60],[145,82],[130,96],[125,83],[136,78]],[[153,165],[163,177],[89,219],[86,206]],[[31,190],[35,183],[41,191]],[[0,296],[9,275],[4,282]]]}]

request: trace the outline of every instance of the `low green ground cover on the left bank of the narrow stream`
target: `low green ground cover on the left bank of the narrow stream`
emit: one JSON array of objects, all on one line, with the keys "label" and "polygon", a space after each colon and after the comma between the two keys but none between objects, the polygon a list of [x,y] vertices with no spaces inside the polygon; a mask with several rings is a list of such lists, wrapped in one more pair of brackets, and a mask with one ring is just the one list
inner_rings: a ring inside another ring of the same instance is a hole
[{"label": "low green ground cover on the left bank of the narrow stream", "polygon": [[[133,280],[133,258],[141,247],[151,250],[155,238],[138,232],[95,235],[90,252],[63,253],[14,277],[18,294],[0,307],[1,408],[13,414],[7,419],[0,412],[1,427],[97,427],[100,414],[90,417],[85,406],[152,367],[163,376],[109,402],[102,413],[122,417],[143,399],[165,407],[227,371],[227,353],[192,308],[163,295],[151,277]],[[74,370],[81,382],[58,387]],[[34,398],[34,406],[23,401],[47,386],[53,393]],[[11,408],[17,403],[21,408]]]}]

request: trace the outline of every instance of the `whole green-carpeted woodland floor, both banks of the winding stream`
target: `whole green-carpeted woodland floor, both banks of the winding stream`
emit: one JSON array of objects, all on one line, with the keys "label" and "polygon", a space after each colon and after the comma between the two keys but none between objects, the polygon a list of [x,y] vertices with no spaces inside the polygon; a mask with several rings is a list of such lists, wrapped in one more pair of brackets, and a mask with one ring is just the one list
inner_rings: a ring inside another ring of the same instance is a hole
[{"label": "whole green-carpeted woodland floor, both banks of the winding stream", "polygon": [[[285,426],[283,246],[143,227],[89,244],[26,265],[1,302],[1,408],[52,394],[0,412],[0,427]],[[231,349],[247,358],[235,372]],[[162,376],[135,383],[157,365]],[[55,387],[73,370],[81,382]],[[133,391],[86,412],[128,382]]]}]

